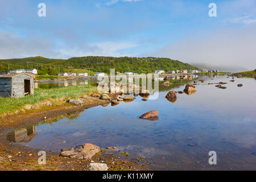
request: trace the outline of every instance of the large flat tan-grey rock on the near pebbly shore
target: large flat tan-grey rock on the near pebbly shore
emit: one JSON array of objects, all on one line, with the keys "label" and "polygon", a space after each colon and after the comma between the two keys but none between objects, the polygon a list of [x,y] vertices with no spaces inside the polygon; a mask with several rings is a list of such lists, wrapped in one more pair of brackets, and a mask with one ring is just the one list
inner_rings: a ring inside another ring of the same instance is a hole
[{"label": "large flat tan-grey rock on the near pebbly shore", "polygon": [[75,146],[71,149],[63,149],[61,150],[60,155],[75,159],[91,159],[98,152],[100,152],[100,147],[92,143],[85,143],[82,146]]}]

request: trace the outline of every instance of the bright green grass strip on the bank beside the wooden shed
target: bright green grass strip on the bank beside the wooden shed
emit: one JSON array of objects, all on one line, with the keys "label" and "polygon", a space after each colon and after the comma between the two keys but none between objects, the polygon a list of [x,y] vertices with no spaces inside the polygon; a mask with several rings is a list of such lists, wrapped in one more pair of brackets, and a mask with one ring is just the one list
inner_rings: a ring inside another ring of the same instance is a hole
[{"label": "bright green grass strip on the bank beside the wooden shed", "polygon": [[78,98],[81,94],[86,94],[96,87],[90,85],[68,86],[64,88],[52,89],[35,89],[35,93],[20,98],[0,97],[0,114],[12,112],[26,104],[37,104],[40,101],[49,100],[50,98]]}]

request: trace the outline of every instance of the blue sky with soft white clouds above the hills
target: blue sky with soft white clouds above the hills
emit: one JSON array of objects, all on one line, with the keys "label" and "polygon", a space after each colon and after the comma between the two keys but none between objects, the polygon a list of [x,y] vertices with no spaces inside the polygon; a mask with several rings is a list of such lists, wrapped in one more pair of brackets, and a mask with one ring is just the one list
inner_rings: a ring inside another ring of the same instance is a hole
[{"label": "blue sky with soft white clouds above the hills", "polygon": [[155,56],[252,70],[256,0],[0,0],[0,59],[30,56]]}]

